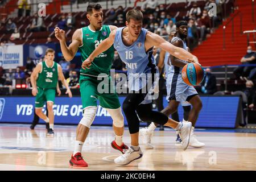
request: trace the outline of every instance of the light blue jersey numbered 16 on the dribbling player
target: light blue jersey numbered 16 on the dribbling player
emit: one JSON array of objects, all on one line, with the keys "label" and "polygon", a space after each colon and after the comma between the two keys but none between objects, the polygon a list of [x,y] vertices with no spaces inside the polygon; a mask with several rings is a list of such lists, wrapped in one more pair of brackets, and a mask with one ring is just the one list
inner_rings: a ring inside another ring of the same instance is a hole
[{"label": "light blue jersey numbered 16 on the dribbling player", "polygon": [[[122,40],[122,30],[117,28],[114,40],[114,48],[117,50],[121,60],[126,64],[129,79],[129,89],[138,91],[147,84],[148,73],[157,73],[152,48],[145,51],[144,42],[147,30],[142,28],[138,39],[131,45],[125,46]],[[131,81],[133,80],[133,81]]]}]

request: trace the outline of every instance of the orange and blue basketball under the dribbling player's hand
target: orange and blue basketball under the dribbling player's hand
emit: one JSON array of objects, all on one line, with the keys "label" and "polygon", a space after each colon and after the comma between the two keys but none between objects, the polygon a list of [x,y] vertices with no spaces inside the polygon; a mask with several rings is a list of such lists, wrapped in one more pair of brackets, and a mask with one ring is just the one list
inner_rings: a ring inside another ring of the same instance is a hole
[{"label": "orange and blue basketball under the dribbling player's hand", "polygon": [[204,69],[197,63],[186,64],[181,73],[183,81],[191,86],[201,84],[204,79]]}]

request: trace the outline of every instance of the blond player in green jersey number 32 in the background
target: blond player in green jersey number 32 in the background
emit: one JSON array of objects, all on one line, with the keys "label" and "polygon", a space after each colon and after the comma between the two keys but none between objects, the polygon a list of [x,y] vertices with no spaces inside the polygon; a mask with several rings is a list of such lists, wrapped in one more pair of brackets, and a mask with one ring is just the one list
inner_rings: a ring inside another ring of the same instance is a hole
[{"label": "blond player in green jersey number 32 in the background", "polygon": [[[53,61],[54,53],[55,51],[53,49],[48,48],[46,50],[45,61],[36,65],[34,71],[30,76],[32,85],[32,95],[36,96],[35,112],[41,119],[46,121],[48,125],[47,135],[54,135],[54,114],[52,107],[55,100],[55,92],[58,78],[61,80],[65,88],[67,88],[66,94],[68,94],[69,97],[72,97],[71,90],[68,87],[68,83],[65,80],[60,65]],[[57,89],[57,91],[60,95],[60,90]],[[47,102],[49,118],[42,111],[45,102]]]}]

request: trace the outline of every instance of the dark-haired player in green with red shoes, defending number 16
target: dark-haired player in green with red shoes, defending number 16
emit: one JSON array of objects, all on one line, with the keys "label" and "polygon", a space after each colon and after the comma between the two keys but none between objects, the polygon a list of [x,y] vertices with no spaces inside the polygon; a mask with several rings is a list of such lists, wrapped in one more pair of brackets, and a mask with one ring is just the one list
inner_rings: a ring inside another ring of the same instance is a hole
[{"label": "dark-haired player in green with red shoes, defending number 16", "polygon": [[[81,52],[81,61],[88,58],[90,53],[102,42],[109,37],[110,32],[115,30],[115,26],[102,25],[103,11],[102,7],[96,3],[90,3],[87,7],[87,15],[90,24],[87,27],[77,29],[72,37],[72,43],[67,46],[65,42],[65,32],[59,27],[55,28],[55,36],[60,41],[61,51],[65,60],[71,61],[75,57],[77,50]],[[104,77],[109,80],[110,84],[105,84],[104,88],[114,90],[111,77],[109,76],[110,68],[114,57],[114,47],[110,47],[107,51],[96,57],[90,69],[80,70],[80,93],[83,107],[83,117],[77,126],[75,150],[69,161],[71,167],[88,167],[88,164],[82,159],[81,151],[85,139],[88,135],[90,126],[93,123],[97,111],[97,99],[100,106],[104,107],[113,119],[113,129],[115,140],[111,143],[116,150],[123,152],[128,147],[122,142],[123,135],[123,115],[117,93],[100,93],[98,85]],[[101,74],[101,75],[100,75]],[[104,79],[105,80],[105,79]]]}]

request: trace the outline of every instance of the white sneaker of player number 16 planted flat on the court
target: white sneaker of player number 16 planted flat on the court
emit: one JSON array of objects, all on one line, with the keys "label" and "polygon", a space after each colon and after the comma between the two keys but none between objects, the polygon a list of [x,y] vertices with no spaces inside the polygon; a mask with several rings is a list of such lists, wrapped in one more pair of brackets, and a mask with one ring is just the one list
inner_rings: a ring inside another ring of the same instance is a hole
[{"label": "white sneaker of player number 16 planted flat on the court", "polygon": [[114,162],[115,164],[125,166],[127,164],[130,164],[134,160],[137,160],[139,158],[142,158],[143,153],[141,151],[141,147],[139,147],[138,151],[134,151],[133,148],[129,147],[128,150],[123,150],[125,154],[119,156],[118,158],[115,158]]}]

